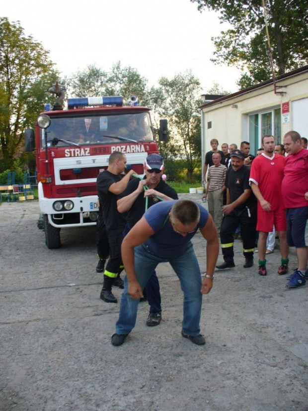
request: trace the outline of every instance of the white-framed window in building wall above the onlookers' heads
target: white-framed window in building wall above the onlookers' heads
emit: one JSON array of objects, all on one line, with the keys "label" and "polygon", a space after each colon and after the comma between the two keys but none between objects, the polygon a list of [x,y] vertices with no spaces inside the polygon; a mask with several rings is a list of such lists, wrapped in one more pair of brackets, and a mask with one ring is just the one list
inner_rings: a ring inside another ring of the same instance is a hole
[{"label": "white-framed window in building wall above the onlookers' heads", "polygon": [[263,111],[248,115],[248,135],[251,154],[256,154],[261,147],[261,139],[264,134],[273,134],[276,142],[281,141],[281,110]]}]

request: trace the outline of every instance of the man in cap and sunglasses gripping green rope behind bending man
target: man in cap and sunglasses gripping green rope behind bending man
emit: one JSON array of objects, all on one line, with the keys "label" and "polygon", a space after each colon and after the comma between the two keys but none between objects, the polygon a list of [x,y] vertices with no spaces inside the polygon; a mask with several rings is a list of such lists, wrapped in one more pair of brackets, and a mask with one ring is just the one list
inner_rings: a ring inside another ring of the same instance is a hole
[{"label": "man in cap and sunglasses gripping green rope behind bending man", "polygon": [[[162,157],[158,154],[150,154],[145,161],[144,179],[141,181],[137,179],[130,181],[126,190],[119,196],[117,202],[118,211],[121,213],[127,212],[126,234],[142,218],[147,208],[162,200],[178,199],[175,190],[161,179],[163,169]],[[145,190],[146,186],[148,189]],[[150,305],[147,325],[158,325],[161,320],[161,299],[155,270],[145,287],[145,295]]]}]

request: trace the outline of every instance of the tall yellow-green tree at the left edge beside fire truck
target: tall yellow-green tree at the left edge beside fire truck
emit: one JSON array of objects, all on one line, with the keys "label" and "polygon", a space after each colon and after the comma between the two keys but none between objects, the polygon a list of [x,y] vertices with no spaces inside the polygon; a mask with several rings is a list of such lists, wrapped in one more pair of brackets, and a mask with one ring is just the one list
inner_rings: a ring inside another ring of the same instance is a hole
[{"label": "tall yellow-green tree at the left edge beside fire truck", "polygon": [[41,43],[0,17],[0,170],[13,164],[23,130],[34,125],[57,72]]}]

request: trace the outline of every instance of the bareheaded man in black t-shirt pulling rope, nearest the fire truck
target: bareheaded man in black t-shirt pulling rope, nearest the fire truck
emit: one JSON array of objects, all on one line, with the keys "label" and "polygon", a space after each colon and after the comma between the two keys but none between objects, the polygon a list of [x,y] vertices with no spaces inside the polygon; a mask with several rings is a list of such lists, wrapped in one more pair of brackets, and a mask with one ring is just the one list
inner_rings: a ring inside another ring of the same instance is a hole
[{"label": "bareheaded man in black t-shirt pulling rope, nearest the fire truck", "polygon": [[[126,156],[119,151],[112,153],[108,161],[107,170],[98,175],[96,182],[99,203],[102,207],[103,221],[106,226],[110,246],[110,257],[104,271],[104,282],[100,298],[106,303],[117,303],[117,299],[112,294],[111,289],[119,272],[123,269],[121,243],[123,240],[122,233],[126,224],[124,216],[117,210],[117,200],[118,195],[126,189],[135,171],[130,170],[123,176],[122,173],[126,168]],[[123,288],[123,285],[121,285],[121,288]]]}]

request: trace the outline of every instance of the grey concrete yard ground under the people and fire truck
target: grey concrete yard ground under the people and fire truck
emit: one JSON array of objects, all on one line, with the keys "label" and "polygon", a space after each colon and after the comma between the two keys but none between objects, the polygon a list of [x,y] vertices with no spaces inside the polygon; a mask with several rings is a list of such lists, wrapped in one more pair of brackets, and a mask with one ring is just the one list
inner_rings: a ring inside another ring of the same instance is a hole
[{"label": "grey concrete yard ground under the people and fire truck", "polygon": [[[63,246],[48,250],[38,214],[36,201],[0,206],[1,411],[308,410],[308,285],[286,289],[278,250],[260,277],[257,254],[244,269],[235,241],[235,269],[218,272],[203,300],[201,347],[181,337],[179,281],[161,264],[160,325],[146,326],[141,303],[113,347],[119,305],[99,299],[95,227],[63,229]],[[204,270],[200,233],[193,243]]]}]

